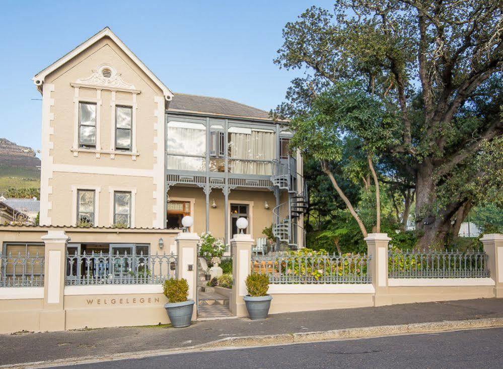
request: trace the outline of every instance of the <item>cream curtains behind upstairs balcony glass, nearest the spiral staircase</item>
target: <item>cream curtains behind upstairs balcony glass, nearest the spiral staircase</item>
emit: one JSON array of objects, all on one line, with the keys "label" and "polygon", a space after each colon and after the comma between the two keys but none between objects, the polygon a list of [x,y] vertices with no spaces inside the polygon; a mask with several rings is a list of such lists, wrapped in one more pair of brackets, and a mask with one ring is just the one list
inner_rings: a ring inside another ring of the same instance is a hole
[{"label": "cream curtains behind upstairs balcony glass, nearest the spiral staircase", "polygon": [[[271,160],[275,156],[274,132],[252,130],[251,134],[231,133],[230,146],[233,158]],[[271,175],[271,164],[233,160],[232,172]]]}]

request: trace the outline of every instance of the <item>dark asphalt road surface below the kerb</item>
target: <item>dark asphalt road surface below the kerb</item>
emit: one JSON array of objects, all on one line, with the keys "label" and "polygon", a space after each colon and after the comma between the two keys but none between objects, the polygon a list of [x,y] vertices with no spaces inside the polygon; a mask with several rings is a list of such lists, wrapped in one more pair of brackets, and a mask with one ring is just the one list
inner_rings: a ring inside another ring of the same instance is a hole
[{"label": "dark asphalt road surface below the kerb", "polygon": [[501,368],[503,328],[191,352],[65,366],[159,368]]}]

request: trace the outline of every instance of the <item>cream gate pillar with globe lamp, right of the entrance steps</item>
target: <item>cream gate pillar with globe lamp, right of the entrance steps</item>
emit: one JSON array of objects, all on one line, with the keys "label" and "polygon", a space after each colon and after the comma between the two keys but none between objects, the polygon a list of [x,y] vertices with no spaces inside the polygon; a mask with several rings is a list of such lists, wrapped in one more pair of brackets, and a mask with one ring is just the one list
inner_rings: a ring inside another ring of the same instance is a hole
[{"label": "cream gate pillar with globe lamp, right of the entrance steps", "polygon": [[248,316],[243,296],[248,294],[245,280],[251,272],[251,248],[253,239],[249,234],[235,234],[232,247],[232,294],[229,301],[231,313],[238,317]]}]

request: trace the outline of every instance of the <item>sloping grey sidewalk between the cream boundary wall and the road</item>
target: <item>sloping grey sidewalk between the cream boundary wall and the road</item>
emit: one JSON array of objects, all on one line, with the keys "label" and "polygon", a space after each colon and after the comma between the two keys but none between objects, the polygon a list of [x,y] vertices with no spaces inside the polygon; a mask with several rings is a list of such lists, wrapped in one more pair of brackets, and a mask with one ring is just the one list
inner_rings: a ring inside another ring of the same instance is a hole
[{"label": "sloping grey sidewalk between the cream boundary wall and the road", "polygon": [[181,329],[152,326],[4,334],[0,335],[0,365],[168,350],[226,337],[484,318],[503,318],[503,299],[284,313],[271,315],[264,321],[238,318],[194,322]]}]

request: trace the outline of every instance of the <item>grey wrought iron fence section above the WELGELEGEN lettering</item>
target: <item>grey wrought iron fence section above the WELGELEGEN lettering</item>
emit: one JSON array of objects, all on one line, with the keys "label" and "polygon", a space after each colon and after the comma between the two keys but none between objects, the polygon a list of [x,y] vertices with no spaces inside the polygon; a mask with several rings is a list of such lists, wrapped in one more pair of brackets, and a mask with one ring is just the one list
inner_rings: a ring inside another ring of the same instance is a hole
[{"label": "grey wrought iron fence section above the WELGELEGEN lettering", "polygon": [[176,278],[178,256],[94,253],[66,256],[65,285],[149,285]]}]

